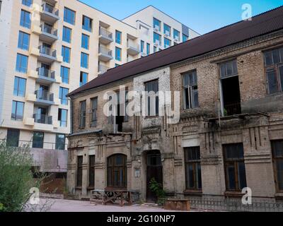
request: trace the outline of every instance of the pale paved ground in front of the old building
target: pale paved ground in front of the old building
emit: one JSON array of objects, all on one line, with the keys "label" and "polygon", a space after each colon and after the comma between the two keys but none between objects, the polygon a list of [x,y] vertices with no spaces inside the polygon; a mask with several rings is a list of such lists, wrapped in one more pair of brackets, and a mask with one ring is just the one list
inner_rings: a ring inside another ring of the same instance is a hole
[{"label": "pale paved ground in front of the old building", "polygon": [[164,210],[155,206],[133,205],[133,206],[113,206],[94,204],[90,201],[73,201],[66,199],[48,199],[40,198],[41,203],[52,204],[50,212],[175,212]]}]

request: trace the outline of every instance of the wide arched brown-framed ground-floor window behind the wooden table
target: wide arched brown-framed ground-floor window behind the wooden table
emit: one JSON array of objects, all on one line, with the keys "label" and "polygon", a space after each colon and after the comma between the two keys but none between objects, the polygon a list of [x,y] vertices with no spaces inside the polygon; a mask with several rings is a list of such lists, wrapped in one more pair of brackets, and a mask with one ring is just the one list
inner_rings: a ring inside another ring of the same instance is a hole
[{"label": "wide arched brown-framed ground-floor window behind the wooden table", "polygon": [[108,157],[108,187],[127,187],[127,156],[111,155]]}]

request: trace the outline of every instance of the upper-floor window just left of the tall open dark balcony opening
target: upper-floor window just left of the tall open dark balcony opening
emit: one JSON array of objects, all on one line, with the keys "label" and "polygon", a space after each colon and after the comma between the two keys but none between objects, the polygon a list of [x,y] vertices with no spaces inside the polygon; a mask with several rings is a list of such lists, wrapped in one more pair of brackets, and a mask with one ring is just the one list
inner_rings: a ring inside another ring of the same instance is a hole
[{"label": "upper-floor window just left of the tall open dark balcony opening", "polygon": [[184,109],[199,107],[197,71],[191,71],[183,75],[183,106]]}]

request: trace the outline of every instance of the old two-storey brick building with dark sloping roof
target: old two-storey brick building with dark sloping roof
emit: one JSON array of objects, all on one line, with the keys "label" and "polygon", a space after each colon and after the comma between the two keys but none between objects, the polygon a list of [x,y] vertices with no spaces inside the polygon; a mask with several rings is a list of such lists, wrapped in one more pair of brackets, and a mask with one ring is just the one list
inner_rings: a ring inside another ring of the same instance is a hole
[{"label": "old two-storey brick building with dark sloping roof", "polygon": [[[241,196],[249,187],[255,197],[283,197],[282,21],[281,7],[111,69],[70,93],[69,191],[123,187],[151,201],[154,177],[172,196]],[[168,124],[156,109],[155,116],[106,116],[103,95],[120,85],[180,91],[180,121]]]}]

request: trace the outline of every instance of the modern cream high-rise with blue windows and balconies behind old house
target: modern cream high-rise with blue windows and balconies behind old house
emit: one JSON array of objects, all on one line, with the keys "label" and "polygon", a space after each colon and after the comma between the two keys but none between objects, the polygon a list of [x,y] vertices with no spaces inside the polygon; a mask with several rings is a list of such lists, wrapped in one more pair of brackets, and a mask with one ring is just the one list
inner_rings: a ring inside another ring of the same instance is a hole
[{"label": "modern cream high-rise with blue windows and balconies behind old house", "polygon": [[76,0],[0,1],[0,138],[67,172],[66,95],[110,68],[199,34],[153,6],[124,20]]}]

